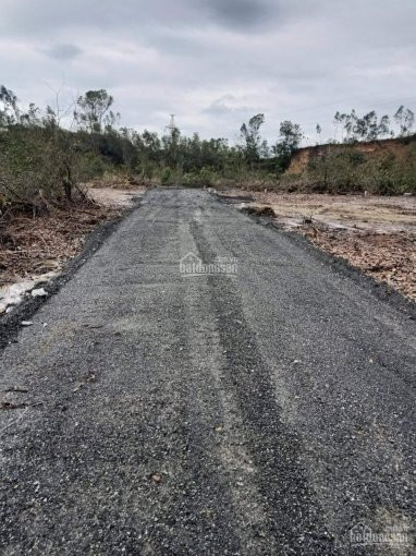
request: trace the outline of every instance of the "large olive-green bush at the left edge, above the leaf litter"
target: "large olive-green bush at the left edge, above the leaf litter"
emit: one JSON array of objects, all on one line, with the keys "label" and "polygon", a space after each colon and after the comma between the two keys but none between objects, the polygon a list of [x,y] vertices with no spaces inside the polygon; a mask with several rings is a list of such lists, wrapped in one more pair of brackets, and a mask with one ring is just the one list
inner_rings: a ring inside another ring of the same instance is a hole
[{"label": "large olive-green bush at the left edge, above the leaf litter", "polygon": [[[71,201],[79,184],[117,167],[96,148],[96,136],[56,125],[12,125],[0,133],[0,201],[38,209]],[[124,141],[124,140],[123,140]]]}]

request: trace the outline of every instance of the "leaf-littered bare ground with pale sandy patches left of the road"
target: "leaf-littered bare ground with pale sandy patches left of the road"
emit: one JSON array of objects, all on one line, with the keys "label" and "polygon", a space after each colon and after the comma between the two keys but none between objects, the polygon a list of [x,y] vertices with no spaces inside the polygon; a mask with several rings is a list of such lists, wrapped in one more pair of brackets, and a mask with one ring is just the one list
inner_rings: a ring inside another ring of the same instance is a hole
[{"label": "leaf-littered bare ground with pale sandy patches left of the road", "polygon": [[87,192],[88,202],[49,206],[47,213],[36,217],[16,213],[0,220],[0,313],[14,303],[16,288],[24,294],[39,279],[58,275],[82,251],[86,237],[132,207],[143,188],[125,191],[87,186]]}]

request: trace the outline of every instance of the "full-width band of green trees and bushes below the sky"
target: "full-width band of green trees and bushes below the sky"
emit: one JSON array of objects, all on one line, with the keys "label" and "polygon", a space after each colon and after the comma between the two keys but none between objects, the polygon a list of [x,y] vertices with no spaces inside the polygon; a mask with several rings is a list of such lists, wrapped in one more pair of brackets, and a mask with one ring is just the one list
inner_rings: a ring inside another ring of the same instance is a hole
[{"label": "full-width band of green trees and bushes below the sky", "polygon": [[[416,192],[415,117],[403,106],[393,116],[403,142],[402,156],[386,150],[368,157],[355,147],[362,141],[391,137],[388,116],[337,112],[335,137],[341,131],[344,146],[330,140],[297,177],[285,173],[303,138],[299,125],[291,121],[280,124],[276,144],[269,145],[260,134],[265,116],[258,113],[242,124],[240,143],[230,146],[224,138],[201,140],[196,133],[186,137],[174,128],[161,137],[122,128],[112,106],[112,96],[100,89],[79,96],[66,111],[58,106],[40,110],[35,105],[23,110],[16,95],[1,86],[1,214],[10,206],[36,213],[48,209],[50,203],[73,203],[84,196],[83,184],[88,180],[114,173],[140,184]],[[316,134],[319,140],[319,124]]]}]

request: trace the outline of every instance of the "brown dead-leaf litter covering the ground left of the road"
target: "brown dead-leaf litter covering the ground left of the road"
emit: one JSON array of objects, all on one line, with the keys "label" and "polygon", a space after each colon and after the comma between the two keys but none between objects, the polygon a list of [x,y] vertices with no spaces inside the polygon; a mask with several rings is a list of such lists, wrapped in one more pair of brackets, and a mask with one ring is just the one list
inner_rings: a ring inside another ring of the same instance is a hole
[{"label": "brown dead-leaf litter covering the ground left of the road", "polygon": [[87,204],[0,220],[0,286],[59,270],[81,251],[89,231],[118,214],[113,208]]}]

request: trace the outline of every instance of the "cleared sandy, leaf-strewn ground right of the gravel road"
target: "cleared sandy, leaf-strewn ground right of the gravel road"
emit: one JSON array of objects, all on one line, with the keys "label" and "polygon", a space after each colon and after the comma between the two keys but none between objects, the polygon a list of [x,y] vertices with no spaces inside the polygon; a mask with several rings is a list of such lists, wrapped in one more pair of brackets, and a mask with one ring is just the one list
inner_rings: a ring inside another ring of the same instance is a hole
[{"label": "cleared sandy, leaf-strewn ground right of the gravel road", "polygon": [[416,197],[222,192],[416,300]]}]

